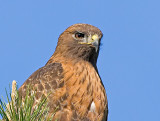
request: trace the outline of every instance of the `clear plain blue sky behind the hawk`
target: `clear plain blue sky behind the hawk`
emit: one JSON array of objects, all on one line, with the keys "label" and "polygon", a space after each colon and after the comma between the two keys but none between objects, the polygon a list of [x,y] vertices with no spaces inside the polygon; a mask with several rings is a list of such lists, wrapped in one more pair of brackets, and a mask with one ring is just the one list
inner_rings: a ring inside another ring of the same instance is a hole
[{"label": "clear plain blue sky behind the hawk", "polygon": [[70,25],[104,34],[98,69],[108,121],[160,121],[159,0],[0,0],[0,96],[21,86],[53,54]]}]

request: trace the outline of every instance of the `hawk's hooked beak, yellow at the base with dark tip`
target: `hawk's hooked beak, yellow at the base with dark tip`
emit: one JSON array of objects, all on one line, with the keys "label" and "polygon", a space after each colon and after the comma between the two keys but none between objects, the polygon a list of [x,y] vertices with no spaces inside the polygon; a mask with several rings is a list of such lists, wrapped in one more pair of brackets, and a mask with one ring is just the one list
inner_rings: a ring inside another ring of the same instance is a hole
[{"label": "hawk's hooked beak, yellow at the base with dark tip", "polygon": [[98,51],[100,37],[97,34],[90,35],[86,40],[80,42],[80,44],[88,44],[92,45],[96,48],[96,52]]}]

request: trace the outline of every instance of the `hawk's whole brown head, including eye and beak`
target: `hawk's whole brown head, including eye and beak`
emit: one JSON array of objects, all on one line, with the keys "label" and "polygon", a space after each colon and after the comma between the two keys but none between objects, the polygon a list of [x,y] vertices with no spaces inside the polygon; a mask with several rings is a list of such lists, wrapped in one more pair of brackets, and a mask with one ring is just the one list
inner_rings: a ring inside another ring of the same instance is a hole
[{"label": "hawk's whole brown head, including eye and beak", "polygon": [[89,24],[74,24],[59,37],[55,54],[96,63],[102,32]]}]

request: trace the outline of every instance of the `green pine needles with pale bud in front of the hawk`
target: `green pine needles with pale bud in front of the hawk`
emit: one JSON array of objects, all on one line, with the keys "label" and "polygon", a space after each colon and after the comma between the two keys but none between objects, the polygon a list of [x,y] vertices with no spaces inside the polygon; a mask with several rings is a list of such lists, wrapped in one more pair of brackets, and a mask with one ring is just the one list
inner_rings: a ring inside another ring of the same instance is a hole
[{"label": "green pine needles with pale bud in front of the hawk", "polygon": [[[29,87],[29,86],[28,86]],[[0,99],[0,121],[51,121],[52,116],[48,115],[47,97],[41,99],[38,104],[34,104],[35,93],[30,93],[28,88],[24,100],[19,96],[16,81],[12,83],[12,92],[7,96],[7,103]],[[11,100],[9,100],[9,98]],[[33,108],[34,107],[34,108]]]}]

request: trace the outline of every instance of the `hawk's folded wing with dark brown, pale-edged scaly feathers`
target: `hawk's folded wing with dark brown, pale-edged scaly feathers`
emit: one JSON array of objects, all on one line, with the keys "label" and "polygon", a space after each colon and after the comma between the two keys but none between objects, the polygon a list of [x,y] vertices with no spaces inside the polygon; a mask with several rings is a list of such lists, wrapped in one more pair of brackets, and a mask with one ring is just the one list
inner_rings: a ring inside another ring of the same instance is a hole
[{"label": "hawk's folded wing with dark brown, pale-edged scaly feathers", "polygon": [[[35,71],[20,87],[19,95],[22,99],[26,95],[27,85],[36,91],[36,101],[39,101],[42,95],[47,96],[50,92],[58,90],[64,86],[63,68],[60,63],[48,64]],[[49,98],[50,99],[50,98]]]}]

